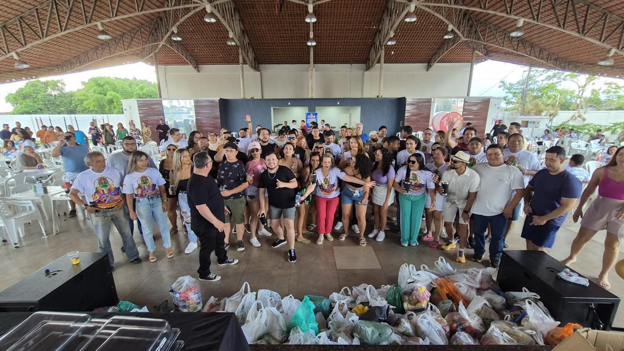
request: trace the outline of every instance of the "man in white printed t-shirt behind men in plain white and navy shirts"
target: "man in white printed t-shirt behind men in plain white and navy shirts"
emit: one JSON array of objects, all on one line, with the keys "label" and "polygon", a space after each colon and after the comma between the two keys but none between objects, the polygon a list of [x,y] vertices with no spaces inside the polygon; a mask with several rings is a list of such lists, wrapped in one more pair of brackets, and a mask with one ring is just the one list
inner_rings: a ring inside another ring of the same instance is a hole
[{"label": "man in white printed t-shirt behind men in plain white and navy shirts", "polygon": [[[531,177],[542,169],[539,159],[533,152],[523,150],[524,136],[520,133],[515,133],[509,136],[507,139],[507,146],[509,149],[505,150],[505,163],[509,166],[514,166],[520,169],[522,172],[522,178],[524,179],[524,187],[529,185]],[[520,218],[520,207],[522,206],[522,200],[514,207],[514,213],[509,221],[507,221],[507,232],[505,233],[505,241],[503,247],[507,248],[507,237],[514,227],[515,222]]]}]

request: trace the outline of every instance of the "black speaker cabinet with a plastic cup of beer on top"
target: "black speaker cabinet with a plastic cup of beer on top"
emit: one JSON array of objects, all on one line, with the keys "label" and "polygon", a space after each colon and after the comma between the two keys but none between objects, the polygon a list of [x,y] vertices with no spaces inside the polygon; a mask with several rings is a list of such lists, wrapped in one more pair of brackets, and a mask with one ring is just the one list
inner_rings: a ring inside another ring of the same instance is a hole
[{"label": "black speaker cabinet with a plastic cup of beer on top", "polygon": [[79,264],[72,265],[64,255],[0,292],[0,312],[89,312],[116,306],[119,299],[109,257],[92,252],[79,255]]}]

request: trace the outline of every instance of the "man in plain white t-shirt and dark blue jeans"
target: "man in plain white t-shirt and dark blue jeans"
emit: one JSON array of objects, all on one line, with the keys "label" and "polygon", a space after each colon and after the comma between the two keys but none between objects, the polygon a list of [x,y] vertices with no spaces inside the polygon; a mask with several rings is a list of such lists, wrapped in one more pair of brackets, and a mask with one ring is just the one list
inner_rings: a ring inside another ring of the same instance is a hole
[{"label": "man in plain white t-shirt and dark blue jeans", "polygon": [[[491,227],[490,266],[498,269],[503,252],[507,219],[512,217],[514,207],[524,197],[522,172],[505,164],[505,152],[499,144],[487,147],[487,163],[472,169],[479,173],[481,187],[472,205],[474,220],[474,257],[481,262],[485,253],[485,233]],[[514,195],[515,193],[515,195]]]}]

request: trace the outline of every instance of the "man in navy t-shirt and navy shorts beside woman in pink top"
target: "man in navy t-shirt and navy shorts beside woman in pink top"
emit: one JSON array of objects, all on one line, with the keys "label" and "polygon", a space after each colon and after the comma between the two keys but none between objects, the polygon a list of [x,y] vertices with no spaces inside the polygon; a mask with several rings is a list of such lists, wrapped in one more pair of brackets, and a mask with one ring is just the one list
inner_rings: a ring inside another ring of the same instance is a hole
[{"label": "man in navy t-shirt and navy shorts beside woman in pink top", "polygon": [[581,195],[581,181],[565,170],[563,161],[565,150],[550,147],[546,151],[546,169],[529,180],[524,193],[527,217],[521,235],[527,240],[527,250],[546,252],[555,244],[559,227]]}]

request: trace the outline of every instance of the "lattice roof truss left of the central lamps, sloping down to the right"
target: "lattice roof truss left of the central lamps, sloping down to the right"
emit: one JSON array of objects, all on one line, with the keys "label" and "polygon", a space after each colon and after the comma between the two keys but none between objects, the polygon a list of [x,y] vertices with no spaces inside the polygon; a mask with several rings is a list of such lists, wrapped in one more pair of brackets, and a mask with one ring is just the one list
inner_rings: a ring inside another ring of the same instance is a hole
[{"label": "lattice roof truss left of the central lamps, sloping down to the right", "polygon": [[245,57],[245,62],[256,72],[260,72],[260,66],[256,61],[256,56],[253,53],[249,37],[245,32],[245,26],[243,26],[243,20],[241,19],[238,10],[234,6],[234,2],[230,1],[212,1],[212,12],[217,16],[219,21],[223,24],[228,32],[232,33],[232,39],[240,47]]}]

